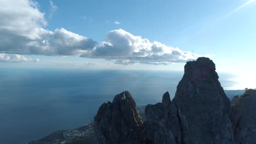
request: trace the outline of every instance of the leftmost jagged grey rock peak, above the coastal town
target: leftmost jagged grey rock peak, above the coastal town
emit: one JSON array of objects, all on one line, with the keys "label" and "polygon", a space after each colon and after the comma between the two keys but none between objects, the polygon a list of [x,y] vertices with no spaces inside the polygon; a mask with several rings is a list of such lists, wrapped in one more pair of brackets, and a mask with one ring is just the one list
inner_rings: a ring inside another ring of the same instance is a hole
[{"label": "leftmost jagged grey rock peak, above the coastal town", "polygon": [[112,103],[102,104],[94,121],[98,143],[139,143],[143,122],[127,91],[116,95]]}]

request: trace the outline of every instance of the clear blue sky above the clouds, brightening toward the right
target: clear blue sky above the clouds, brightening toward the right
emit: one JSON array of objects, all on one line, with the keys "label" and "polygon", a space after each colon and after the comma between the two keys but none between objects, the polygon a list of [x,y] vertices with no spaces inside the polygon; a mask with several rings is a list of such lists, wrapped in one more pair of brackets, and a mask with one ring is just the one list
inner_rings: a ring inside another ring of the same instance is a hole
[{"label": "clear blue sky above the clouds, brightening toward the right", "polygon": [[[49,19],[48,1],[38,1],[48,26],[103,41],[108,31],[122,28],[150,41],[179,47],[200,55],[223,58],[253,53],[256,38],[256,3],[248,1],[53,1]],[[231,13],[234,11],[234,13]],[[86,16],[84,20],[82,17]],[[90,21],[91,20],[91,21]],[[115,25],[114,21],[120,22]],[[108,23],[109,22],[109,23]],[[248,51],[244,51],[248,50]]]}]

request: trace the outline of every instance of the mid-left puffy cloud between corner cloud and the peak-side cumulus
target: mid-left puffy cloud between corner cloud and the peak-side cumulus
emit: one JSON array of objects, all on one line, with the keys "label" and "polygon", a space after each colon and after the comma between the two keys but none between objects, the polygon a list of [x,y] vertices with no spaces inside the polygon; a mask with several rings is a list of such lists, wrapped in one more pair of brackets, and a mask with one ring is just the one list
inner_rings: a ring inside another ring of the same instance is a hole
[{"label": "mid-left puffy cloud between corner cloud and the peak-side cumulus", "polygon": [[60,28],[49,32],[45,39],[30,41],[26,46],[35,55],[71,56],[93,49],[96,44],[92,39]]}]

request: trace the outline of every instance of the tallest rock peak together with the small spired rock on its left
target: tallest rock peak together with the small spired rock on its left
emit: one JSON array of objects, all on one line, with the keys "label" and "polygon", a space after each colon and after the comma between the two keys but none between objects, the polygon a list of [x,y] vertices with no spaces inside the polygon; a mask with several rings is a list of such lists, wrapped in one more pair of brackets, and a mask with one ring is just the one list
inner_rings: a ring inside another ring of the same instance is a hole
[{"label": "tallest rock peak together with the small spired rock on its left", "polygon": [[187,62],[173,100],[165,93],[146,106],[147,121],[157,125],[154,143],[234,143],[230,101],[215,70],[209,58]]}]

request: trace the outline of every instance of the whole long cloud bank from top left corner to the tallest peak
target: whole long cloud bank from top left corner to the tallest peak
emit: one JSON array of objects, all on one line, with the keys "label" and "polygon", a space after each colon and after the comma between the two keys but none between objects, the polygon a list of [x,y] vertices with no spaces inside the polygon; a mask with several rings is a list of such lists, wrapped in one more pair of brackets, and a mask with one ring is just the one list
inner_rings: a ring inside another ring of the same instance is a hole
[{"label": "whole long cloud bank from top left corner to the tallest peak", "polygon": [[64,28],[49,31],[45,29],[47,21],[37,2],[0,0],[0,4],[0,52],[9,53],[6,55],[76,55],[118,64],[170,64],[199,57],[158,41],[150,42],[123,29],[108,32],[101,43]]}]

